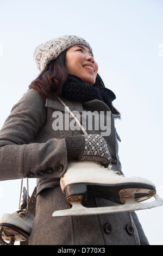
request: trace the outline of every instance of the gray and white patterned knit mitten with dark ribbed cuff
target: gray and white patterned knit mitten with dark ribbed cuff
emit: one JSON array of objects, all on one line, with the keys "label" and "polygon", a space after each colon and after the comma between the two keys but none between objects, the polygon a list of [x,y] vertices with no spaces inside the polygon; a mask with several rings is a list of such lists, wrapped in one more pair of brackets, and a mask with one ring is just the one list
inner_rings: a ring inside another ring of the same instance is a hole
[{"label": "gray and white patterned knit mitten with dark ribbed cuff", "polygon": [[101,162],[108,167],[111,156],[105,139],[100,135],[78,135],[66,138],[68,160]]}]

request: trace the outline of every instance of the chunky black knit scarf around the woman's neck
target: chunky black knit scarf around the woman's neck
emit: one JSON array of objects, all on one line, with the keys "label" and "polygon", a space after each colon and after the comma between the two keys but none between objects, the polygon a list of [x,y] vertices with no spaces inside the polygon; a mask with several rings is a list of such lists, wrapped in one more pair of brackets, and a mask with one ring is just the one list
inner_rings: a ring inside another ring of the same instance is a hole
[{"label": "chunky black knit scarf around the woman's neck", "polygon": [[86,102],[90,100],[103,101],[112,111],[112,101],[116,99],[115,94],[105,87],[89,86],[82,79],[74,75],[68,75],[62,86],[63,97],[67,100]]}]

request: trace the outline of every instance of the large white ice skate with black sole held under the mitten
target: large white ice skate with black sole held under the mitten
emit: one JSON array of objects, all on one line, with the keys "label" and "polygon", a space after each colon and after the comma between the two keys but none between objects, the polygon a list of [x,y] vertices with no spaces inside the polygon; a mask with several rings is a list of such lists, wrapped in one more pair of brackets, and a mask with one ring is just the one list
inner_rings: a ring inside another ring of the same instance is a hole
[{"label": "large white ice skate with black sole held under the mitten", "polygon": [[[118,172],[92,161],[72,161],[60,179],[66,202],[72,207],[53,212],[52,216],[94,215],[121,211],[149,209],[162,205],[151,181],[139,177],[126,178]],[[86,208],[82,203],[87,195],[108,199],[117,205]],[[154,202],[141,203],[154,197]]]}]

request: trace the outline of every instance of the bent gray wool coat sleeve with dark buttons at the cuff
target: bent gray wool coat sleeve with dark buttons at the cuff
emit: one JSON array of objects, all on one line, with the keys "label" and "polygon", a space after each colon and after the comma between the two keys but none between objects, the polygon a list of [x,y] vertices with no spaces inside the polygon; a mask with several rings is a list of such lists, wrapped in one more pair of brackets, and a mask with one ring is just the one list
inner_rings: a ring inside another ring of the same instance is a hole
[{"label": "bent gray wool coat sleeve with dark buttons at the cuff", "polygon": [[0,180],[60,178],[67,168],[65,139],[32,143],[46,120],[41,95],[29,89],[0,131]]}]

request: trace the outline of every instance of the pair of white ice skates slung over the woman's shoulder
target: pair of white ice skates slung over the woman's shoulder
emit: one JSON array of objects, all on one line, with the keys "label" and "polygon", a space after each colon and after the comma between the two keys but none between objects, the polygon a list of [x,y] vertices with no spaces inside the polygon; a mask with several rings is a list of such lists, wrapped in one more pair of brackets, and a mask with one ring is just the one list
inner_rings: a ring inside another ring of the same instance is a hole
[{"label": "pair of white ice skates slung over the woman's shoulder", "polygon": [[[72,161],[68,163],[67,172],[60,179],[66,202],[72,207],[53,212],[52,216],[94,215],[112,212],[150,209],[162,205],[162,198],[156,194],[151,181],[143,178],[126,178],[114,172],[111,166],[104,168],[92,161]],[[32,230],[35,216],[35,192],[29,200],[29,206],[14,214],[0,216],[0,243],[14,244],[26,241]],[[82,205],[87,196],[104,198],[117,203],[116,206],[86,208]],[[141,203],[151,197],[154,202]]]}]

